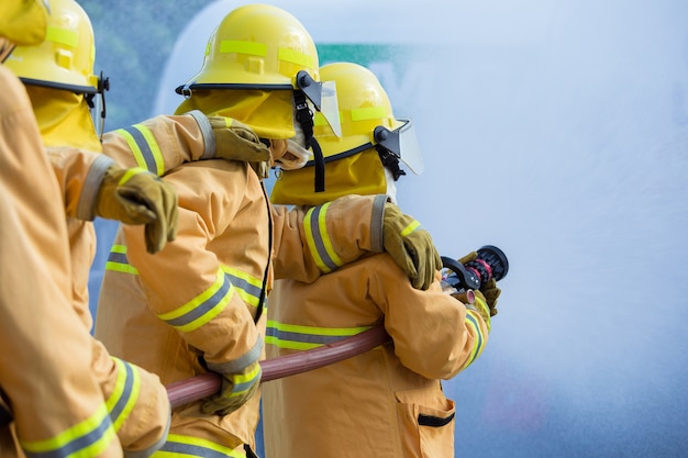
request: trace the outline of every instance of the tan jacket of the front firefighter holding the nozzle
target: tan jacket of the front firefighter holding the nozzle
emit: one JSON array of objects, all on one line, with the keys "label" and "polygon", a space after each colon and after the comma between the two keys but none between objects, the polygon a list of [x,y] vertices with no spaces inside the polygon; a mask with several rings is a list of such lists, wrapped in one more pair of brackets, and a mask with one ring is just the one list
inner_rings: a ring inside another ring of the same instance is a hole
[{"label": "tan jacket of the front firefighter holding the nozzle", "polygon": [[442,292],[412,288],[387,254],[318,279],[275,283],[267,358],[318,348],[384,325],[391,342],[263,386],[266,456],[454,457],[454,402],[441,379],[470,365],[487,342],[480,315]]}]

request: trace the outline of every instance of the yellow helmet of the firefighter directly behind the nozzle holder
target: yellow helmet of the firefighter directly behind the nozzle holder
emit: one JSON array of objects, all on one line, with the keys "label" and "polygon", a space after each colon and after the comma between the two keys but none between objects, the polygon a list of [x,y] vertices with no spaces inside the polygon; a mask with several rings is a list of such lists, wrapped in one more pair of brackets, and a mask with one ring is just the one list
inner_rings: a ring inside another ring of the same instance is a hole
[{"label": "yellow helmet of the firefighter directly behind the nozzle holder", "polygon": [[198,89],[291,90],[297,109],[307,108],[308,99],[337,132],[336,90],[320,81],[318,68],[315,43],[298,19],[269,4],[247,4],[224,16],[208,41],[201,70],[176,91],[190,97]]}]

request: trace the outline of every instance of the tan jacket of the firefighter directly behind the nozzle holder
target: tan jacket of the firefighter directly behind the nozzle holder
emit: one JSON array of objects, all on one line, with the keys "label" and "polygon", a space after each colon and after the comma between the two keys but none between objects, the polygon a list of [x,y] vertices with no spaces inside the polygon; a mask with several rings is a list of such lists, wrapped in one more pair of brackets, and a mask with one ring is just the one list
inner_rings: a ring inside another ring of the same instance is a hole
[{"label": "tan jacket of the firefighter directly behind the nozzle holder", "polygon": [[[166,384],[264,357],[273,276],[313,281],[328,265],[382,246],[384,196],[334,202],[330,217],[323,212],[307,228],[302,212],[271,208],[245,163],[184,164],[164,179],[179,198],[177,239],[149,255],[142,227],[121,227],[106,266],[96,336]],[[270,253],[295,257],[273,270]],[[201,414],[200,402],[182,406],[162,450],[242,456],[237,447],[255,449],[258,407],[259,395],[225,416]]]}]

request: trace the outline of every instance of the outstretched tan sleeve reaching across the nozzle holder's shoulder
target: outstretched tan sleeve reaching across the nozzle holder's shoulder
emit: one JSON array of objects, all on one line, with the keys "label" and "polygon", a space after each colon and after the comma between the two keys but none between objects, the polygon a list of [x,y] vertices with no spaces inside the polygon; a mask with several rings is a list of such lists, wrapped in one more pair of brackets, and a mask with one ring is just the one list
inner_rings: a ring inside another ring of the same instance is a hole
[{"label": "outstretched tan sleeve reaching across the nozzle holder's shoulder", "polygon": [[309,209],[273,206],[275,278],[312,282],[367,253],[382,253],[386,196],[346,196]]}]

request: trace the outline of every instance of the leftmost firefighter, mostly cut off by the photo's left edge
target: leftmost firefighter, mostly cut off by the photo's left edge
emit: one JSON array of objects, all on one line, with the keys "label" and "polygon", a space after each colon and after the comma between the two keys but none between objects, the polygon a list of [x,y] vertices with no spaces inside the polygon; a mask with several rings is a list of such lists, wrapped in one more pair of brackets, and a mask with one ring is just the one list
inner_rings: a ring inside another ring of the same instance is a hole
[{"label": "leftmost firefighter, mostly cut off by the photo's left edge", "polygon": [[[46,9],[0,2],[0,62],[45,38]],[[59,188],[26,91],[3,65],[0,85],[0,456],[122,457],[70,302]]]}]

